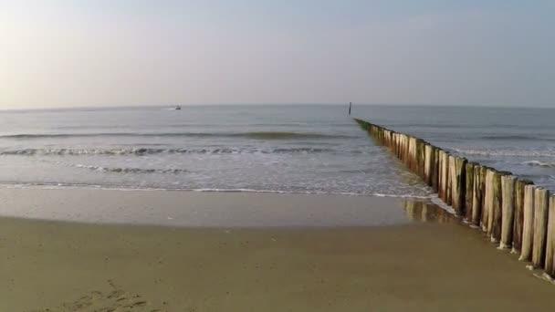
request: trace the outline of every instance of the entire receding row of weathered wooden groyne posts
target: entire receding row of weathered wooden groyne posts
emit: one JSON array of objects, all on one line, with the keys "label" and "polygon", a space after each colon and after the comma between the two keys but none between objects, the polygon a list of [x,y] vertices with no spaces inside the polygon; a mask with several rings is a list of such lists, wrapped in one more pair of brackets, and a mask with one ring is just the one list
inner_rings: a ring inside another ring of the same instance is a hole
[{"label": "entire receding row of weathered wooden groyne posts", "polygon": [[467,161],[425,140],[355,120],[500,249],[555,276],[555,195],[511,172]]}]

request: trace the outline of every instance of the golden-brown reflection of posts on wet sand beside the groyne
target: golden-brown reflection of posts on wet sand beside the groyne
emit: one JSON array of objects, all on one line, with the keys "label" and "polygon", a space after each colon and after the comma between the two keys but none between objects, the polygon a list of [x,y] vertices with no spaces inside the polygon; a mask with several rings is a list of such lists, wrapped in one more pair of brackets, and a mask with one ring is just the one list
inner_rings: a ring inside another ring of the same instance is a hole
[{"label": "golden-brown reflection of posts on wet sand beside the groyne", "polygon": [[403,210],[411,221],[457,224],[460,219],[434,203],[403,201]]}]

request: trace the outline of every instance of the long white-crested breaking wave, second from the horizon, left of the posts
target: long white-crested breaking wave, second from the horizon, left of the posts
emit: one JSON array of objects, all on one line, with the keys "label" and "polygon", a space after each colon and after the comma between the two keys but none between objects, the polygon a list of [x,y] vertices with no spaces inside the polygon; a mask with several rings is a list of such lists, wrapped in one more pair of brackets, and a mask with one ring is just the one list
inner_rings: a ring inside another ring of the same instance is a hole
[{"label": "long white-crested breaking wave, second from the horizon, left of the posts", "polygon": [[[276,148],[276,149],[247,149],[247,148],[215,148],[215,149],[158,149],[158,148],[129,148],[129,149],[21,149],[0,151],[0,155],[21,155],[21,156],[87,156],[87,155],[135,155],[145,156],[154,154],[242,154],[242,153],[262,153],[262,154],[294,154],[294,153],[321,153],[337,150],[321,148]],[[361,151],[353,151],[361,152]]]}]

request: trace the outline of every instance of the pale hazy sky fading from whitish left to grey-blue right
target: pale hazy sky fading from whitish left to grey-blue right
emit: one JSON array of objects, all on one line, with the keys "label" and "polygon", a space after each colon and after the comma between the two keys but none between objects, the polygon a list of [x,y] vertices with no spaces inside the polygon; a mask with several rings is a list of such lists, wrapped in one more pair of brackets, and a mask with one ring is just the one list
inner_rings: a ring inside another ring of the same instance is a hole
[{"label": "pale hazy sky fading from whitish left to grey-blue right", "polygon": [[0,109],[555,107],[555,1],[0,0]]}]

